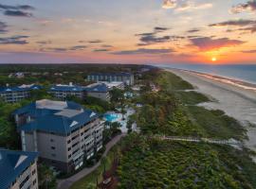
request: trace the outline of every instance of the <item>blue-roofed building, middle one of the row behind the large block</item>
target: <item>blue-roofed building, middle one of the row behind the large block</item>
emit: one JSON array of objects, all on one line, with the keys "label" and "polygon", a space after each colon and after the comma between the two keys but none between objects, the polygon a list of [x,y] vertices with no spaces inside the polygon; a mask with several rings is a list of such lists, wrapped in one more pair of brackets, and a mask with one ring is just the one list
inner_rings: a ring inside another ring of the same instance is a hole
[{"label": "blue-roofed building, middle one of the row behind the large block", "polygon": [[55,97],[62,100],[71,95],[82,99],[84,97],[84,87],[73,85],[72,83],[69,83],[69,85],[59,84],[52,86],[49,90],[49,94],[53,94]]}]

